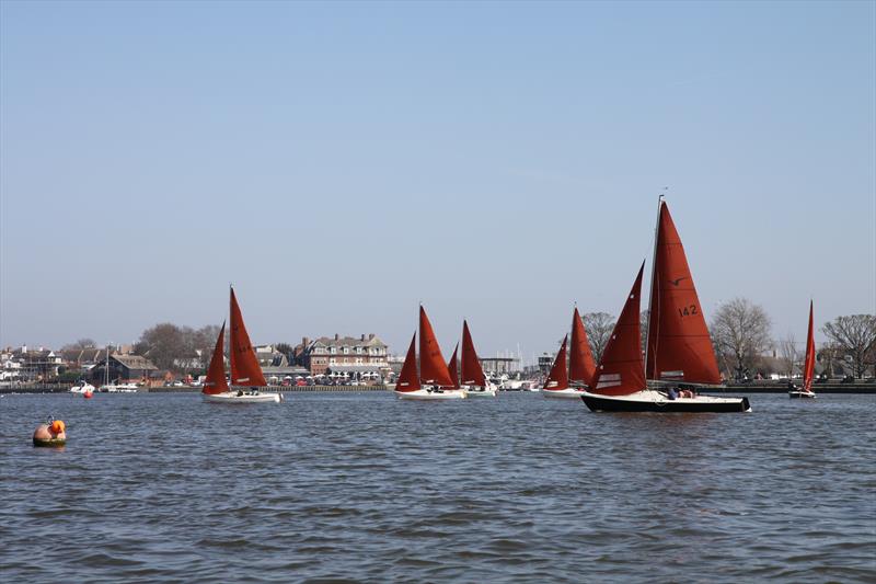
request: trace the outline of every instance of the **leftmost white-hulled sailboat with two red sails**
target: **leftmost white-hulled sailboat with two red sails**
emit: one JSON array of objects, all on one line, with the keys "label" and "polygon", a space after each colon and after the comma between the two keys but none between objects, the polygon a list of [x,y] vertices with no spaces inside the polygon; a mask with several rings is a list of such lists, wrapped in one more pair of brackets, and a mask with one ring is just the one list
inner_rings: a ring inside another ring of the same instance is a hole
[{"label": "leftmost white-hulled sailboat with two red sails", "polygon": [[204,381],[204,401],[215,403],[278,403],[278,393],[262,393],[257,387],[267,386],[258,359],[255,358],[255,350],[250,342],[246,327],[243,325],[243,316],[238,306],[238,298],[234,296],[234,288],[231,288],[231,350],[229,360],[231,362],[231,385],[245,389],[233,390],[229,387],[226,379],[224,367],[224,334],[226,323],[219,331],[216,340],[216,348],[210,358],[210,367],[207,370],[207,379]]}]

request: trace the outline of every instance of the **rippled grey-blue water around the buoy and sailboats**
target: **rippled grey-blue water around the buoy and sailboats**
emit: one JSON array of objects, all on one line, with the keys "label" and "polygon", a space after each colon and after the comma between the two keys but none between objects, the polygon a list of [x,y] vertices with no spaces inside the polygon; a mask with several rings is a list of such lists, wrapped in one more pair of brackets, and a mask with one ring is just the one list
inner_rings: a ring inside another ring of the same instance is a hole
[{"label": "rippled grey-blue water around the buoy and sailboats", "polygon": [[[0,398],[5,582],[874,582],[876,397]],[[31,445],[48,415],[64,450]]]}]

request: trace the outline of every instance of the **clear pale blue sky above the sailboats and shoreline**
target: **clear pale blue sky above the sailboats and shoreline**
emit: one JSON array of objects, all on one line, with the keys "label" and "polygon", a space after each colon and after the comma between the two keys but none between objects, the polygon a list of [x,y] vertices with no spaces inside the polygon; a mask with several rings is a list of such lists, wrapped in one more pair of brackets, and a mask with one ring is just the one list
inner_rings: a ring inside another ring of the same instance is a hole
[{"label": "clear pale blue sky above the sailboats and shoreline", "polygon": [[[876,310],[874,2],[0,3],[0,345],[616,314],[656,197],[706,318]],[[647,267],[649,270],[649,265]]]}]

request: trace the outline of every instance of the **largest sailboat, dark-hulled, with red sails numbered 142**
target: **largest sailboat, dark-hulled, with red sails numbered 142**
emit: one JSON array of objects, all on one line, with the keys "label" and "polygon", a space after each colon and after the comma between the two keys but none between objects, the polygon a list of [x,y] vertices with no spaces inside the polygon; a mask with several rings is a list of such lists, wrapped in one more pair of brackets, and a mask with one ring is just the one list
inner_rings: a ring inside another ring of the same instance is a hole
[{"label": "largest sailboat, dark-hulled, with red sails numbered 142", "polygon": [[[638,321],[643,270],[606,346],[595,386],[581,396],[587,406],[592,411],[625,412],[751,411],[748,398],[701,396],[691,386],[716,386],[721,374],[684,248],[662,197],[655,237],[645,367]],[[648,389],[646,378],[654,380],[655,389]],[[688,389],[677,390],[679,383]]]}]

